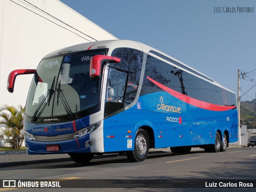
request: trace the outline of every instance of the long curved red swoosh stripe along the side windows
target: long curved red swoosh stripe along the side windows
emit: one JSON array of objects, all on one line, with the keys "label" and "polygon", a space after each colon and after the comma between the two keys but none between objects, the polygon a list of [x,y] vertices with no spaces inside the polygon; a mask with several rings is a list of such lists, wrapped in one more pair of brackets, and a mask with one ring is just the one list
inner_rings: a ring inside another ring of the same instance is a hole
[{"label": "long curved red swoosh stripe along the side windows", "polygon": [[159,82],[153,80],[152,78],[147,77],[151,82],[153,82],[154,84],[156,84],[158,87],[160,87],[162,90],[168,92],[169,94],[171,94],[172,96],[178,98],[179,100],[182,100],[188,104],[191,104],[193,106],[202,108],[202,109],[206,109],[206,110],[211,110],[211,111],[227,111],[230,109],[234,109],[236,108],[236,106],[221,106],[221,105],[215,105],[215,104],[211,104],[208,102],[204,102],[204,101],[200,101],[197,100],[195,98],[186,96],[184,94],[181,94],[175,90],[172,90],[162,84],[160,84]]}]

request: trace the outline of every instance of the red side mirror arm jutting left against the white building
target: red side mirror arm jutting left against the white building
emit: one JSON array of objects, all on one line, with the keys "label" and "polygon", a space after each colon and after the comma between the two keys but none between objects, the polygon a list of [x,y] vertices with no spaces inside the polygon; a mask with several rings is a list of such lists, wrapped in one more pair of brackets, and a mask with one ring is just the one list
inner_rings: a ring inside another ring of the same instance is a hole
[{"label": "red side mirror arm jutting left against the white building", "polygon": [[17,69],[10,72],[7,80],[7,90],[12,93],[14,90],[14,82],[17,75],[35,74],[35,69]]}]

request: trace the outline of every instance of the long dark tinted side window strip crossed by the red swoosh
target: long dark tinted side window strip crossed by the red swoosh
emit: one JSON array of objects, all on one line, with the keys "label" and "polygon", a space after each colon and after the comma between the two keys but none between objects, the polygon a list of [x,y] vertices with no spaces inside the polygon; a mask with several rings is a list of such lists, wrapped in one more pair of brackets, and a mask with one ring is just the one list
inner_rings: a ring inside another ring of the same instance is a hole
[{"label": "long dark tinted side window strip crossed by the red swoosh", "polygon": [[150,55],[147,56],[145,76],[140,94],[162,91],[147,77],[172,90],[204,102],[236,106],[236,97],[233,93]]}]

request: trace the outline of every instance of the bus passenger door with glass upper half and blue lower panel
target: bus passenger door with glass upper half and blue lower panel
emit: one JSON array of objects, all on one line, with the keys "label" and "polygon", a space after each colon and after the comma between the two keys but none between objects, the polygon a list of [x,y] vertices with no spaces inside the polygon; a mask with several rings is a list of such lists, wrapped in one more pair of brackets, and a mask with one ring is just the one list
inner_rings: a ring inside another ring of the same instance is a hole
[{"label": "bus passenger door with glass upper half and blue lower panel", "polygon": [[104,108],[104,152],[125,149],[124,94],[128,74],[109,68]]}]

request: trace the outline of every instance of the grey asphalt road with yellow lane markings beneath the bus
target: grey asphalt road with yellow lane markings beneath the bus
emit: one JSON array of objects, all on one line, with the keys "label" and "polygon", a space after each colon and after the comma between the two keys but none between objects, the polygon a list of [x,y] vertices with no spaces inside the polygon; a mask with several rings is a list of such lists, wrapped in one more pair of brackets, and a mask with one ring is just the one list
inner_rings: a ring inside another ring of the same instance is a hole
[{"label": "grey asphalt road with yellow lane markings beneath the bus", "polygon": [[[125,155],[111,158],[96,158],[87,164],[74,162],[53,162],[0,168],[0,179],[5,180],[56,180],[60,185],[71,188],[55,188],[56,191],[202,191],[196,188],[203,183],[204,189],[216,191],[208,186],[215,182],[256,182],[256,148],[228,148],[226,152],[206,153],[194,148],[186,154],[173,154],[169,149],[151,151],[143,162],[129,162]],[[106,181],[106,179],[108,179]],[[145,181],[142,184],[141,180]],[[183,182],[187,179],[187,182]],[[138,180],[138,183],[136,183]],[[124,183],[128,181],[128,183]],[[170,188],[168,182],[180,182],[180,186]],[[76,183],[77,182],[77,183]],[[146,187],[145,187],[146,183]],[[164,185],[166,184],[166,185]],[[219,183],[218,183],[219,184]],[[105,185],[105,186],[104,186]],[[206,184],[207,185],[207,184]],[[82,186],[82,188],[75,188]],[[87,188],[90,186],[90,188]],[[121,186],[122,188],[117,188]],[[139,188],[136,188],[136,187]],[[167,186],[165,188],[164,186]],[[74,187],[74,188],[72,188]],[[98,188],[97,188],[98,187]],[[107,187],[107,188],[104,188]],[[189,188],[187,188],[189,187]],[[232,191],[254,191],[256,184],[248,188],[232,188]],[[163,190],[164,188],[164,190]],[[4,188],[6,190],[7,188]],[[3,189],[2,189],[3,190]],[[32,191],[35,189],[15,189]],[[52,191],[37,188],[36,191]],[[219,190],[227,190],[223,187]],[[1,191],[1,189],[0,189]]]}]

